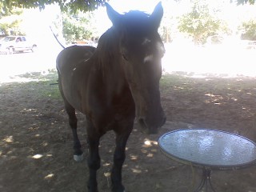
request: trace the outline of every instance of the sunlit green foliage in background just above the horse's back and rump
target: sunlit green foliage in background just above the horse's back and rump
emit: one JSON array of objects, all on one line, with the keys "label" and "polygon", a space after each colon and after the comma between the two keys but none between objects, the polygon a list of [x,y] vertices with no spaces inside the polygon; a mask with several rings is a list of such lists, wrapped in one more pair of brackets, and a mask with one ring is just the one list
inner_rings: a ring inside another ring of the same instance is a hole
[{"label": "sunlit green foliage in background just above the horse's back and rump", "polygon": [[62,33],[66,42],[90,39],[93,34],[93,27],[90,25],[90,18],[92,17],[93,14],[90,12],[62,13]]}]

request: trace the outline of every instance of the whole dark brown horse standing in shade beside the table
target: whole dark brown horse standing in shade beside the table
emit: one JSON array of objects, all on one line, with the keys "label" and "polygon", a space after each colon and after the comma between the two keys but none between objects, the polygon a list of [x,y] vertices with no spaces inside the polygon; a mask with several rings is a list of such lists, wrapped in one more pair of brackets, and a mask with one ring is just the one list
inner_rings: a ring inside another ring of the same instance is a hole
[{"label": "whole dark brown horse standing in shade beside the table", "polygon": [[166,121],[160,103],[161,58],[165,52],[158,34],[162,4],[152,14],[130,11],[118,14],[106,4],[113,26],[99,39],[98,47],[68,47],[58,55],[59,89],[74,134],[74,159],[81,160],[75,110],[86,115],[89,143],[88,190],[98,191],[99,139],[108,130],[116,134],[112,191],[124,191],[122,164],[126,142],[136,117],[142,131],[156,134]]}]

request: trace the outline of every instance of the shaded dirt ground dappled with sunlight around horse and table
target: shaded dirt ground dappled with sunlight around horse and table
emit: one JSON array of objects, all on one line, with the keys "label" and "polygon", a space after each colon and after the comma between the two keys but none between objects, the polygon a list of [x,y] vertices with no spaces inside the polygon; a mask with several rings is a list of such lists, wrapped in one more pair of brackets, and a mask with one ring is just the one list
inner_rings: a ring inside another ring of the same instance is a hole
[{"label": "shaded dirt ground dappled with sunlight around horse and table", "polygon": [[[191,127],[227,130],[256,141],[256,78],[174,73],[162,76],[162,106],[168,122],[158,135],[134,126],[122,174],[126,192],[187,192],[200,182],[201,170],[167,158],[158,138]],[[86,191],[86,161],[74,162],[72,135],[63,110],[56,72],[20,76],[26,82],[0,84],[0,191]],[[85,120],[78,133],[87,156]],[[114,134],[101,141],[99,191],[110,191]],[[256,192],[256,166],[212,173],[216,191]]]}]

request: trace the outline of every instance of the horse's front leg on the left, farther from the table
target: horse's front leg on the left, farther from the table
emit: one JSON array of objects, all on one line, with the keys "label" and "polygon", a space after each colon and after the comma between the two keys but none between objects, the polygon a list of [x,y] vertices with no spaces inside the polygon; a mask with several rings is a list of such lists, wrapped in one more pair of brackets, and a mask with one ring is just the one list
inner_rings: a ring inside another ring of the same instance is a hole
[{"label": "horse's front leg on the left, farther from the table", "polygon": [[87,188],[89,192],[98,192],[97,170],[100,168],[100,157],[98,154],[98,146],[100,135],[95,133],[94,126],[87,120],[87,137],[89,145],[88,167],[89,180]]}]

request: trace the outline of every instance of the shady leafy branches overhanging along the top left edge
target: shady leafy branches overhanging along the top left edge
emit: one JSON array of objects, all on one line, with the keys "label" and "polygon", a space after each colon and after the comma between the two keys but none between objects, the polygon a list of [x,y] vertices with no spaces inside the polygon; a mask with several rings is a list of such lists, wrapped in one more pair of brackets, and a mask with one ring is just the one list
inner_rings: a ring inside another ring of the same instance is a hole
[{"label": "shady leafy branches overhanging along the top left edge", "polygon": [[12,7],[20,8],[39,8],[44,9],[46,5],[58,4],[61,10],[70,9],[72,12],[76,10],[88,11],[95,10],[98,6],[104,5],[106,0],[4,0],[3,6],[8,9]]}]

